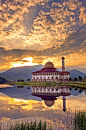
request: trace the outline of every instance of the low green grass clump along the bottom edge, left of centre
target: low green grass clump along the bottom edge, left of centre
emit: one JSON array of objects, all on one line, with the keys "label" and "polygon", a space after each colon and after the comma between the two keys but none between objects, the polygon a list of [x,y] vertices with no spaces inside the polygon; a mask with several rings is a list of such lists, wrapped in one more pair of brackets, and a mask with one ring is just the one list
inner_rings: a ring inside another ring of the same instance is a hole
[{"label": "low green grass clump along the bottom edge, left of centre", "polygon": [[39,123],[36,121],[29,123],[27,121],[22,122],[21,124],[17,123],[15,126],[10,126],[8,130],[52,130],[52,127],[47,127],[46,121],[40,121]]}]

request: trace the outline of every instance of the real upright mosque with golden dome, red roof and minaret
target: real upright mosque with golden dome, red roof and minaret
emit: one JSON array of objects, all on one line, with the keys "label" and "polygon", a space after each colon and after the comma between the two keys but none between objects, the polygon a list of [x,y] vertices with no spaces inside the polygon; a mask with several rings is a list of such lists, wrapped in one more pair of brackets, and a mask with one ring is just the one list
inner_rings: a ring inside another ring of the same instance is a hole
[{"label": "real upright mosque with golden dome, red roof and minaret", "polygon": [[65,58],[62,57],[62,71],[58,71],[54,68],[52,62],[47,62],[39,71],[32,73],[32,81],[68,81],[70,73],[65,71]]}]

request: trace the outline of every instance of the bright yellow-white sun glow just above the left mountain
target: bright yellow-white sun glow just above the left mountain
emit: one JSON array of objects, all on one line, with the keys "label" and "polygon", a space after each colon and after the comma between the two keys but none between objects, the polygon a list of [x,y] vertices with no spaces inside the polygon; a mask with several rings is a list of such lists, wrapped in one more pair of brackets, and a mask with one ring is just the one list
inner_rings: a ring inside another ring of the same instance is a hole
[{"label": "bright yellow-white sun glow just above the left mountain", "polygon": [[12,63],[12,67],[22,67],[22,66],[34,66],[37,65],[37,63],[32,62],[33,58],[32,57],[26,57],[21,59],[21,61],[17,61],[16,63]]}]

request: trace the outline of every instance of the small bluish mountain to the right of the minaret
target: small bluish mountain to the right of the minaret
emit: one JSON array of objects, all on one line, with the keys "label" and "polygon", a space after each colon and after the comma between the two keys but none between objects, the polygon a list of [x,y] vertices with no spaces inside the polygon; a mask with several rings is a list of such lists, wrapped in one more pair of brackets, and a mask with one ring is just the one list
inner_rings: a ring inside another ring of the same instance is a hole
[{"label": "small bluish mountain to the right of the minaret", "polygon": [[70,70],[70,77],[71,78],[78,78],[78,76],[81,76],[84,78],[84,76],[86,75],[85,73],[79,71],[79,70],[76,70],[76,69],[73,69],[73,70]]}]

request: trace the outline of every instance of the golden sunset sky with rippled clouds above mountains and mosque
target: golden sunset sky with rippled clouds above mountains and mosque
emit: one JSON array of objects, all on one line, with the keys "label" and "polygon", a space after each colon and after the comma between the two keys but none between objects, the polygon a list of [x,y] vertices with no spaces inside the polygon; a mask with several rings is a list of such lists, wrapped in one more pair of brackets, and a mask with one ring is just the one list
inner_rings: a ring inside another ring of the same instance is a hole
[{"label": "golden sunset sky with rippled clouds above mountains and mosque", "polygon": [[1,0],[0,70],[45,64],[86,73],[86,0]]}]

